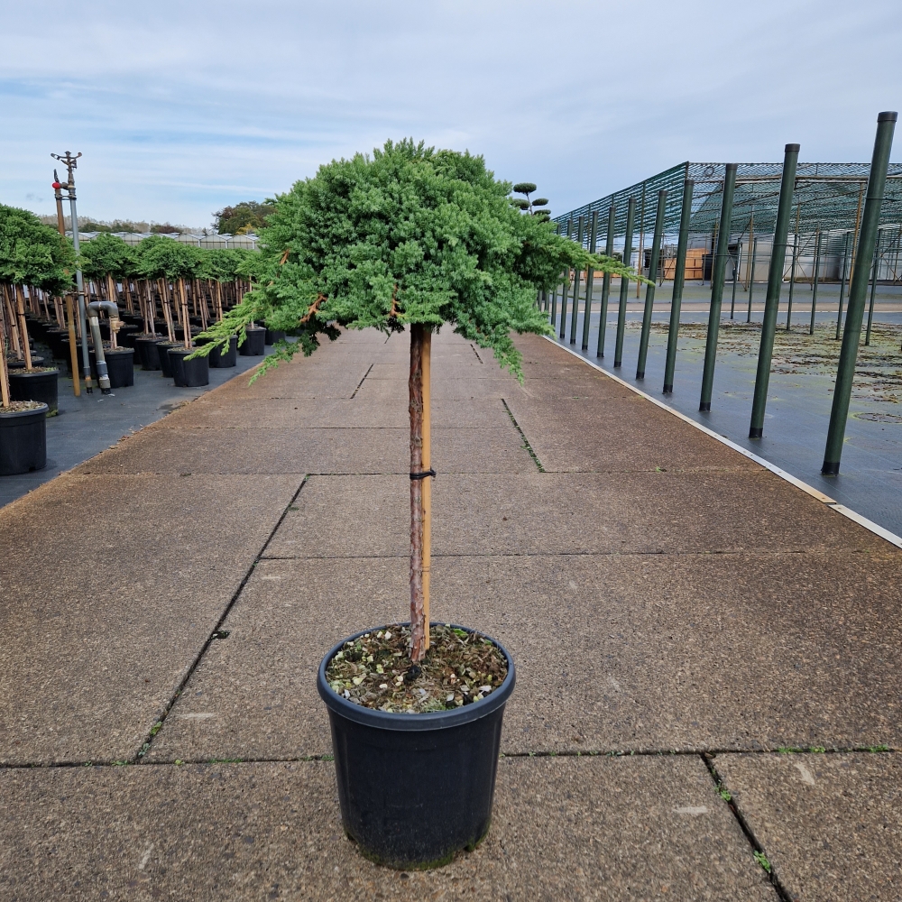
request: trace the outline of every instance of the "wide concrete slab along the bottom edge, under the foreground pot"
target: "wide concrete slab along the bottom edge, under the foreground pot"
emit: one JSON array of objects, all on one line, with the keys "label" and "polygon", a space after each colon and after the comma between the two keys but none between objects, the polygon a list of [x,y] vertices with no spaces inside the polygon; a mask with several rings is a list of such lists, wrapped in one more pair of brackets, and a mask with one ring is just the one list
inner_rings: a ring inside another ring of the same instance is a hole
[{"label": "wide concrete slab along the bottom edge, under the foreground pot", "polygon": [[0,785],[10,902],[774,898],[698,759],[504,759],[483,843],[412,873],[345,838],[328,763],[20,770]]}]

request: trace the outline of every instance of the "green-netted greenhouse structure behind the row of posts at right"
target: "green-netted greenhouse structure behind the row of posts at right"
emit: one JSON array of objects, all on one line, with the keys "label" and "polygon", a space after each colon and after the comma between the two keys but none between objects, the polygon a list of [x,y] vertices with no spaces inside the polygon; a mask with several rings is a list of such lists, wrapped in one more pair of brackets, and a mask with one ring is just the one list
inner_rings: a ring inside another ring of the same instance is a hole
[{"label": "green-netted greenhouse structure behind the row of posts at right", "polygon": [[[684,162],[630,188],[594,200],[554,220],[561,232],[599,250],[621,255],[630,199],[634,201],[630,264],[648,272],[663,196],[659,234],[660,281],[676,271],[677,235],[684,189],[691,196],[686,242],[686,280],[710,280],[721,218],[726,163]],[[736,164],[726,278],[748,287],[767,281],[783,163]],[[796,169],[784,279],[848,281],[854,269],[870,163],[805,163]],[[609,225],[612,226],[609,229]],[[594,228],[594,235],[592,231]],[[608,231],[612,233],[609,242]],[[875,253],[877,281],[902,281],[902,163],[889,166]]]}]

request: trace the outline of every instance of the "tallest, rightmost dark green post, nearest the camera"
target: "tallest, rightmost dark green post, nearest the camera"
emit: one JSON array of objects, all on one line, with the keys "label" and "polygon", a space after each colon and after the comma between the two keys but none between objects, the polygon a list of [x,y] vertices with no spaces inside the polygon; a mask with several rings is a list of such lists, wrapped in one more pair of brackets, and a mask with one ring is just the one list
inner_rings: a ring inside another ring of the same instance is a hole
[{"label": "tallest, rightmost dark green post, nearest the camera", "polygon": [[[868,195],[861,217],[861,232],[858,239],[858,259],[870,260],[877,246],[880,207],[887,185],[889,152],[893,146],[893,132],[896,129],[897,113],[880,113],[877,116],[877,138],[874,155],[870,161]],[[864,318],[864,298],[868,292],[868,268],[856,266],[849,288],[849,308],[846,324],[842,332],[840,362],[836,368],[836,385],[833,390],[833,410],[830,411],[830,427],[827,429],[827,446],[824,451],[824,465],[821,473],[835,476],[840,472],[842,443],[845,439],[846,420],[849,418],[851,385],[855,378],[855,361],[861,341],[861,320]]]}]

